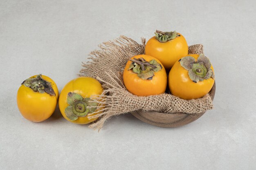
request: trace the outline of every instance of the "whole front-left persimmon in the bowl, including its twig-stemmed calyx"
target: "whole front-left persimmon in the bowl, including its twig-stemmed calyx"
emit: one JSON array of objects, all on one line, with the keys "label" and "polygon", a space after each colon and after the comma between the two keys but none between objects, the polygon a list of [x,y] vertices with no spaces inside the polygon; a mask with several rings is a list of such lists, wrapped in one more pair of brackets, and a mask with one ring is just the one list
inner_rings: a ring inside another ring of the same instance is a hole
[{"label": "whole front-left persimmon in the bowl, including its twig-stemmed calyx", "polygon": [[135,55],[124,68],[124,85],[137,96],[159,95],[167,86],[163,64],[150,55]]}]

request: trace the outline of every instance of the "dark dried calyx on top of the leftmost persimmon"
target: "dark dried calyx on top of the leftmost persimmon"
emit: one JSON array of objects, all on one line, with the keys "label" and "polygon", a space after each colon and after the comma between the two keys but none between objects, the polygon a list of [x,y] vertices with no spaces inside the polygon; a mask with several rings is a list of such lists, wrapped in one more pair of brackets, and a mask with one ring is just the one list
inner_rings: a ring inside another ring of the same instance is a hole
[{"label": "dark dried calyx on top of the leftmost persimmon", "polygon": [[49,95],[55,96],[51,82],[47,82],[43,79],[41,74],[37,75],[36,78],[26,79],[22,84],[26,87],[30,87],[35,92],[39,92],[41,94],[48,93]]}]

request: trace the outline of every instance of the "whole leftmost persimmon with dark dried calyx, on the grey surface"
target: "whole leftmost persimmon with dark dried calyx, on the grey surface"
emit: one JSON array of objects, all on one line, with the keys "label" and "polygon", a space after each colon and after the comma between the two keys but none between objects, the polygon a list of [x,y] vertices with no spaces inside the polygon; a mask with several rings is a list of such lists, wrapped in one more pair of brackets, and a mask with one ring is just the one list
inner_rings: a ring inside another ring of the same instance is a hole
[{"label": "whole leftmost persimmon with dark dried calyx, on the grey surface", "polygon": [[58,88],[45,75],[34,75],[26,79],[17,93],[17,104],[23,117],[40,122],[48,119],[58,102]]}]

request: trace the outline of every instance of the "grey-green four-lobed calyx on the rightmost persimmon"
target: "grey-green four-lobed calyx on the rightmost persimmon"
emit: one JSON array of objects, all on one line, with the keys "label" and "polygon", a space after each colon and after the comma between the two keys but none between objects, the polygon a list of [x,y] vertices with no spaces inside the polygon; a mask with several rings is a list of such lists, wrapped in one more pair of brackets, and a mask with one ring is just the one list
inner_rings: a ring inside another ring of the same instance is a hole
[{"label": "grey-green four-lobed calyx on the rightmost persimmon", "polygon": [[211,62],[204,54],[200,54],[197,61],[195,61],[194,57],[186,56],[180,59],[179,62],[183,68],[189,71],[189,78],[195,83],[202,82],[210,77],[214,79]]}]

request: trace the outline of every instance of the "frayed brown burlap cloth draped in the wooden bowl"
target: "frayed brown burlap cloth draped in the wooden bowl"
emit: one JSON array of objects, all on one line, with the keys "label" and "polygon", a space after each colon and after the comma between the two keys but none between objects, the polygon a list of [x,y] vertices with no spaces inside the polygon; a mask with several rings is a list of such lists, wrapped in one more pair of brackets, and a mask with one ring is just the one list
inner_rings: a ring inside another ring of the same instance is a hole
[{"label": "frayed brown burlap cloth draped in the wooden bowl", "polygon": [[[212,109],[209,94],[200,99],[184,100],[168,93],[139,97],[126,90],[122,72],[126,62],[133,55],[144,54],[146,40],[142,44],[121,35],[113,41],[99,45],[100,50],[90,53],[91,61],[83,63],[80,76],[93,77],[103,84],[104,91],[94,99],[99,104],[97,115],[88,114],[88,118],[99,117],[89,127],[100,129],[112,116],[130,113],[135,110],[157,111],[161,113],[198,114]],[[189,46],[189,54],[203,53],[202,44]]]}]

